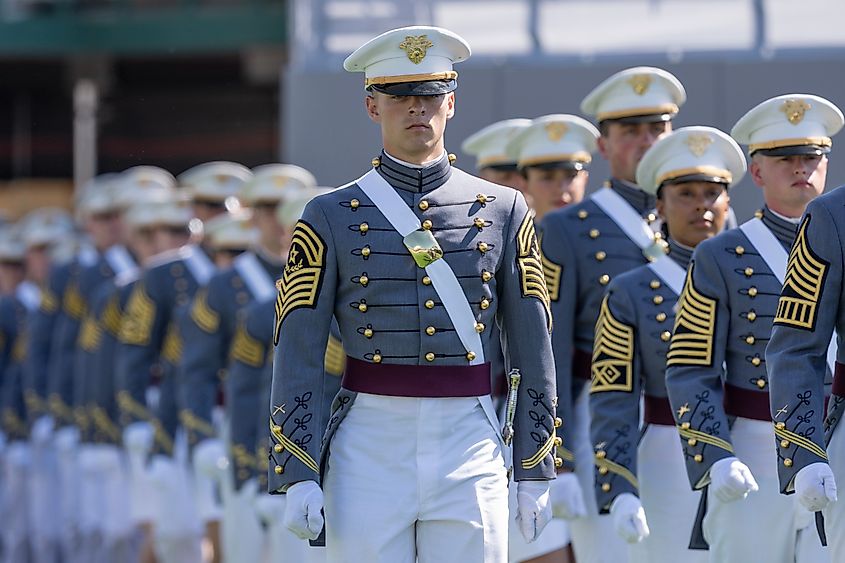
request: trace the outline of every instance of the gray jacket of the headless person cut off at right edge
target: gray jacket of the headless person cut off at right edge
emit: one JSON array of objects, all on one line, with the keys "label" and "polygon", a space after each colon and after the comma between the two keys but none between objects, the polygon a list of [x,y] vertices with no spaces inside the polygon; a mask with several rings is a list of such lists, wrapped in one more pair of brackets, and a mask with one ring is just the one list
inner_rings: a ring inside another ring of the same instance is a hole
[{"label": "gray jacket of the headless person cut off at right edge", "polygon": [[[845,190],[837,188],[807,206],[766,348],[778,473],[786,493],[793,492],[801,468],[827,460],[825,444],[845,407],[843,248]],[[834,329],[836,374],[825,420],[826,356]]]}]

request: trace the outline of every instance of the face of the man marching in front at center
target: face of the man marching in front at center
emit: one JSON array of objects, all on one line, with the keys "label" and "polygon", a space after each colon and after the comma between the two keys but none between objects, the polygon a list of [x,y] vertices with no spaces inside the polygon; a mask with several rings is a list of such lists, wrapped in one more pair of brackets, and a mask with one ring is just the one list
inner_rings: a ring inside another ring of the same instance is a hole
[{"label": "face of the man marching in front at center", "polygon": [[367,114],[381,125],[384,148],[392,156],[422,164],[443,153],[446,122],[455,115],[455,95],[390,96],[373,92]]}]

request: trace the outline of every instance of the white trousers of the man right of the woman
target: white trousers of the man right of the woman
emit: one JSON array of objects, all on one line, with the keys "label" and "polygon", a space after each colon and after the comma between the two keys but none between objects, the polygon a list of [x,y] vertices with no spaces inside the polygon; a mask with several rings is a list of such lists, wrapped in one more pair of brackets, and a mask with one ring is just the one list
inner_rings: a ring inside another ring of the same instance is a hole
[{"label": "white trousers of the man right of the woman", "polygon": [[774,426],[762,420],[737,418],[731,429],[731,441],[734,454],[751,470],[760,490],[749,493],[745,499],[721,502],[708,489],[703,530],[710,545],[709,560],[792,563],[798,526],[803,527],[802,535],[816,532],[815,526],[810,525],[811,519],[799,518],[806,511],[802,511],[795,496],[780,494]]}]

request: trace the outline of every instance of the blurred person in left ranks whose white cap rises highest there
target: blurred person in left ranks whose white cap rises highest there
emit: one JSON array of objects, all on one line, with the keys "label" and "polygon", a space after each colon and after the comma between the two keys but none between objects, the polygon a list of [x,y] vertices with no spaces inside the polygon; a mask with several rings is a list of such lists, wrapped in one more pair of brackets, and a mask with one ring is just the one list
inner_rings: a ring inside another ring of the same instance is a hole
[{"label": "blurred person in left ranks whose white cap rises highest there", "polygon": [[[227,199],[236,197],[251,177],[250,170],[240,164],[209,162],[180,174],[178,183],[187,192],[194,217],[207,226],[214,217],[227,213]],[[165,560],[178,560],[183,550],[186,561],[195,557],[196,515],[186,506],[180,507],[181,511],[173,510],[175,502],[159,506],[156,495],[146,490],[149,484],[144,466],[152,450],[158,456],[160,472],[179,472],[173,449],[179,403],[175,366],[181,360],[184,341],[179,338],[175,311],[186,305],[213,275],[215,265],[209,254],[208,242],[203,241],[153,260],[132,289],[120,328],[115,385],[123,444],[132,467],[133,519],[144,530],[148,546],[153,541],[152,522],[157,515],[159,524],[171,522],[160,526],[162,529],[155,534],[155,550]],[[160,376],[158,382],[156,375]],[[158,401],[151,405],[147,393],[156,383]],[[186,491],[180,494],[184,497]],[[213,506],[206,506],[202,512],[199,516],[209,523],[207,535],[219,551],[219,542],[214,539],[219,513]],[[173,520],[162,521],[161,517]]]}]

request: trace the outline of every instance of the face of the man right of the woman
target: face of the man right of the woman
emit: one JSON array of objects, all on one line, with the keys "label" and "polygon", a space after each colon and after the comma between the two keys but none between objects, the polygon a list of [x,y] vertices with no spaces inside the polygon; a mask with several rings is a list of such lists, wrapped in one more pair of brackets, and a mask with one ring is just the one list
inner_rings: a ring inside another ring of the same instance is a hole
[{"label": "face of the man right of the woman", "polygon": [[751,178],[763,189],[772,211],[800,217],[807,204],[824,191],[827,155],[763,156],[751,159]]}]

